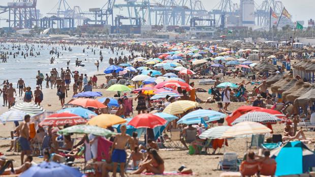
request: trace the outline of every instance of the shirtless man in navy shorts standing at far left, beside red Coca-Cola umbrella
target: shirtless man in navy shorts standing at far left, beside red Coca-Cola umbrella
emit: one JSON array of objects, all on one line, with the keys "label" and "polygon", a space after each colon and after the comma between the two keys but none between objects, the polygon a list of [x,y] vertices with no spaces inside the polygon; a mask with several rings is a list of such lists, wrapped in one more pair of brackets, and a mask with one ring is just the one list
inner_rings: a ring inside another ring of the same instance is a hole
[{"label": "shirtless man in navy shorts standing at far left, beside red Coca-Cola umbrella", "polygon": [[30,155],[30,146],[29,146],[29,127],[27,123],[30,120],[29,115],[24,116],[24,121],[20,123],[20,125],[16,128],[16,131],[20,134],[19,136],[19,143],[22,149],[21,152],[21,165],[23,165],[24,162],[24,155],[27,156]]}]

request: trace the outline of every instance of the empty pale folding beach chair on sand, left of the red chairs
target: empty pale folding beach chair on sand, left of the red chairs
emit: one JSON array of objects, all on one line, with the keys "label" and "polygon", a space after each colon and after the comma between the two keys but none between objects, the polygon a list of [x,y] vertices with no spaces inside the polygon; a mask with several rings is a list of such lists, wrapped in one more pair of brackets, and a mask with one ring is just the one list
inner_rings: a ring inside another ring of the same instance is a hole
[{"label": "empty pale folding beach chair on sand, left of the red chairs", "polygon": [[219,161],[217,169],[223,171],[238,171],[238,159],[236,153],[224,153],[223,159]]}]

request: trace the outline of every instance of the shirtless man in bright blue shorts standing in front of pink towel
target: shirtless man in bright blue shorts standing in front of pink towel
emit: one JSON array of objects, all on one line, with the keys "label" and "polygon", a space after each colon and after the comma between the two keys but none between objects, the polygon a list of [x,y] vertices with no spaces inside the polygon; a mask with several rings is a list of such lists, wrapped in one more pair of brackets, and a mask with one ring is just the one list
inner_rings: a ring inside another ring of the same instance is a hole
[{"label": "shirtless man in bright blue shorts standing in front of pink towel", "polygon": [[130,144],[131,151],[133,151],[135,147],[133,139],[130,135],[126,134],[126,130],[126,126],[121,125],[121,133],[116,135],[112,148],[109,152],[112,155],[112,162],[114,163],[113,177],[116,177],[118,163],[120,163],[120,176],[124,177],[124,165],[127,160],[127,153],[125,152],[127,143]]}]

